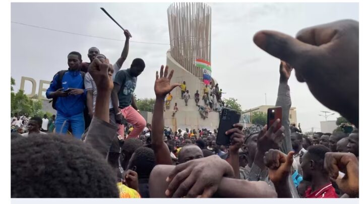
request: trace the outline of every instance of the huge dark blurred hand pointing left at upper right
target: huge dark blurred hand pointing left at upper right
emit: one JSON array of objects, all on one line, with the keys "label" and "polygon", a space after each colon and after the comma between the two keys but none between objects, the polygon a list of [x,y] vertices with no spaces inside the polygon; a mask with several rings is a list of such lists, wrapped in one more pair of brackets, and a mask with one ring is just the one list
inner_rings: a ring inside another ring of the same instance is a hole
[{"label": "huge dark blurred hand pointing left at upper right", "polygon": [[303,29],[296,38],[260,31],[254,42],[291,64],[316,99],[358,126],[358,30],[357,21],[342,20]]}]

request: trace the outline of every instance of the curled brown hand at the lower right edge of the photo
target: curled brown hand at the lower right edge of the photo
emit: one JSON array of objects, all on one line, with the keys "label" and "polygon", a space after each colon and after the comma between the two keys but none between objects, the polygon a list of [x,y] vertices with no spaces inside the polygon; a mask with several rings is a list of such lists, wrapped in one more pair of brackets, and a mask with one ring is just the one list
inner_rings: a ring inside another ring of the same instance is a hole
[{"label": "curled brown hand at the lower right edge of the photo", "polygon": [[[324,168],[329,172],[331,179],[335,180],[344,193],[355,197],[359,192],[358,159],[351,153],[325,153]],[[338,177],[339,171],[345,173]]]}]

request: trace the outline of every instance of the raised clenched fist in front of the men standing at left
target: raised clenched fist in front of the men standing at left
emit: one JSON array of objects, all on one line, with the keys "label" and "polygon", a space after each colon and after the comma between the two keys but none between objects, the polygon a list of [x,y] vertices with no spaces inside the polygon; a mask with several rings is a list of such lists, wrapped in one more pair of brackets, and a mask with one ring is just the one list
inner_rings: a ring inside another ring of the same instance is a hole
[{"label": "raised clenched fist in front of the men standing at left", "polygon": [[109,63],[108,59],[97,56],[88,66],[88,72],[93,78],[97,90],[110,91],[113,89],[111,74],[113,73],[113,67]]}]

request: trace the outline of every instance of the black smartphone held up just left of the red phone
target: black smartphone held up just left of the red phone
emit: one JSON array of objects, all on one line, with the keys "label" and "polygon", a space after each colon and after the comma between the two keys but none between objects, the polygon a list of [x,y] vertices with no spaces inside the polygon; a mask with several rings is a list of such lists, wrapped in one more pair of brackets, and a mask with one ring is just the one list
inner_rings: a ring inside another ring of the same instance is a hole
[{"label": "black smartphone held up just left of the red phone", "polygon": [[238,123],[240,113],[236,110],[223,108],[218,125],[218,133],[216,144],[217,145],[230,145],[230,135],[226,135],[225,132],[233,128],[233,124]]}]

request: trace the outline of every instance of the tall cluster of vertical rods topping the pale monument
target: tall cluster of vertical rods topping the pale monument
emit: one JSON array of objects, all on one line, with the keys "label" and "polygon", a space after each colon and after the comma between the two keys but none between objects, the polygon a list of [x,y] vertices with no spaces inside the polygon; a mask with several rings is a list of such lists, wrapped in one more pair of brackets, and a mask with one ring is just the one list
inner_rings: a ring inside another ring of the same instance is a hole
[{"label": "tall cluster of vertical rods topping the pale monument", "polygon": [[211,7],[204,3],[174,3],[167,10],[170,54],[199,79],[196,59],[211,62]]}]

